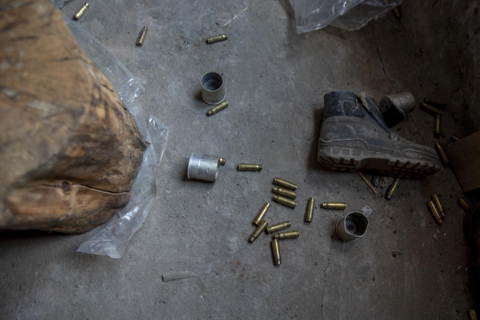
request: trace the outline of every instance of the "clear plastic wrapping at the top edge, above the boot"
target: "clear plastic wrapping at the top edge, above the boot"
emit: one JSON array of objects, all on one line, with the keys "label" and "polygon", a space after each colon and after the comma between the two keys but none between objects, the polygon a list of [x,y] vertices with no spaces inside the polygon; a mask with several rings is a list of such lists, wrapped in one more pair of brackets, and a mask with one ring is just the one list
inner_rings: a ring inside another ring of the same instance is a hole
[{"label": "clear plastic wrapping at the top edge, above the boot", "polygon": [[357,30],[402,0],[289,0],[295,10],[296,32],[320,29],[328,24]]}]

